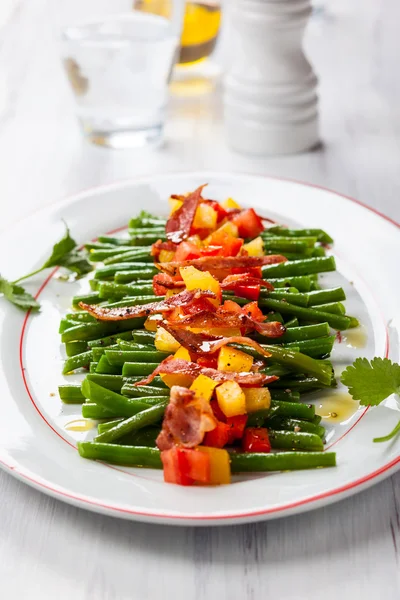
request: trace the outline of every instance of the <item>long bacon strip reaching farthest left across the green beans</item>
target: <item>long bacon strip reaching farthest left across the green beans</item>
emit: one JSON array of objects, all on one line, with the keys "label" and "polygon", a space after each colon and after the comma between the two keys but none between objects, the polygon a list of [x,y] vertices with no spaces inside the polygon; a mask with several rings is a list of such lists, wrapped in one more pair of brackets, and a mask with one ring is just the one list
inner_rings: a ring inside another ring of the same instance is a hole
[{"label": "long bacon strip reaching farthest left across the green beans", "polygon": [[216,298],[209,290],[185,290],[160,302],[150,302],[137,306],[120,306],[116,308],[103,308],[97,305],[80,302],[80,308],[99,319],[100,321],[124,321],[136,317],[148,317],[154,313],[173,311],[179,306],[187,306],[199,298]]}]

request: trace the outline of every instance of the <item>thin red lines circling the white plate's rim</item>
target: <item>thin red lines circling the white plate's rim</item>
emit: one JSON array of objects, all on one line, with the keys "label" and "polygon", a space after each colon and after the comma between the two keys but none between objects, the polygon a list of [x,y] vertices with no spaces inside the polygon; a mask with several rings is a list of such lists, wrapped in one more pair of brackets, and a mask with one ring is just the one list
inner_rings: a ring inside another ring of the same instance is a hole
[{"label": "thin red lines circling the white plate's rim", "polygon": [[[189,174],[190,172],[188,172]],[[168,173],[165,175],[174,175],[177,173]],[[180,172],[180,174],[184,175],[185,173]],[[241,174],[236,174],[236,175],[241,175]],[[243,175],[243,174],[242,174]],[[258,176],[260,177],[260,175],[254,175],[254,174],[247,174],[248,175],[253,175],[253,176]],[[323,190],[325,192],[330,192],[332,194],[335,194],[337,196],[340,196],[342,198],[344,198],[345,200],[349,200],[350,202],[354,202],[356,204],[358,204],[359,206],[362,206],[363,208],[365,208],[366,210],[369,210],[373,213],[375,213],[376,215],[378,215],[379,217],[381,217],[382,219],[388,221],[389,223],[391,223],[392,225],[396,226],[397,228],[400,228],[400,224],[397,223],[394,219],[391,219],[390,217],[386,216],[385,214],[381,213],[380,211],[371,208],[369,206],[367,206],[366,204],[364,204],[363,202],[361,202],[360,200],[356,200],[355,198],[352,198],[351,196],[347,196],[345,194],[341,194],[339,192],[335,192],[334,190],[331,190],[329,188],[320,186],[320,185],[316,185],[316,184],[311,184],[311,183],[306,183],[304,181],[298,181],[295,179],[289,179],[289,178],[282,178],[282,177],[274,177],[274,176],[266,176],[266,175],[262,175],[262,177],[266,178],[266,179],[276,179],[278,181],[287,181],[287,182],[291,182],[291,183],[296,183],[298,185],[302,185],[305,187],[311,187],[311,188],[316,188],[316,189],[320,189]],[[92,187],[89,188],[87,190],[84,190],[78,194],[75,195],[75,197],[79,197],[82,193],[85,192],[89,192],[89,191],[97,191],[97,190],[101,190],[103,188],[107,188],[107,187],[112,187],[112,185],[117,185],[118,183],[126,183],[128,184],[129,181],[131,182],[136,182],[138,179],[142,179],[142,178],[137,178],[137,179],[127,179],[124,181],[120,181],[120,182],[116,182],[116,184],[108,184],[108,185],[103,185],[103,186],[97,186],[97,187]],[[143,177],[143,179],[145,179],[145,177]],[[124,228],[119,228],[118,230],[121,230]],[[117,230],[114,230],[114,233]],[[52,271],[50,273],[50,275],[45,279],[45,281],[42,283],[42,285],[40,286],[35,298],[37,298],[41,292],[43,291],[43,289],[46,287],[46,285],[48,284],[48,282],[50,281],[50,279],[52,278],[53,274],[54,274],[55,270]],[[42,419],[45,421],[45,423],[48,425],[48,427],[50,427],[52,429],[52,431],[59,436],[62,440],[64,440],[66,443],[68,443],[72,448],[74,448],[76,450],[76,446],[74,444],[72,444],[71,442],[69,442],[68,440],[66,440],[65,438],[63,438],[57,431],[56,429],[54,429],[54,427],[52,427],[52,425],[45,419],[45,417],[42,415],[42,413],[39,411],[33,397],[32,394],[30,392],[28,383],[26,381],[26,377],[25,377],[25,372],[23,370],[23,361],[22,361],[22,349],[23,349],[23,338],[24,338],[24,334],[25,334],[25,330],[26,330],[26,325],[28,322],[30,316],[30,311],[26,314],[23,325],[22,325],[22,330],[21,330],[21,336],[20,336],[20,346],[19,346],[19,359],[20,359],[20,366],[21,366],[21,377],[23,379],[23,383],[25,385],[27,394],[31,400],[31,402],[33,403],[33,405],[35,406],[36,410],[38,411],[38,413],[40,414],[40,416],[42,417]],[[364,416],[366,411],[364,411],[362,413],[362,415],[360,416],[360,418],[353,424],[353,426],[346,432],[349,433],[352,429],[354,429],[354,427],[360,422],[360,420],[362,419],[362,417]],[[247,512],[236,512],[236,513],[232,513],[232,514],[227,514],[227,513],[222,513],[222,514],[215,514],[215,515],[177,515],[175,513],[167,513],[167,512],[154,512],[154,511],[144,511],[144,510],[134,510],[134,509],[129,509],[129,508],[123,508],[122,506],[115,506],[115,505],[110,505],[110,504],[105,504],[102,502],[99,502],[93,498],[90,498],[88,496],[82,496],[79,494],[73,494],[71,492],[67,492],[66,490],[64,490],[63,488],[58,488],[52,485],[49,485],[46,481],[43,481],[41,479],[32,477],[29,473],[26,473],[25,471],[19,470],[15,465],[9,464],[4,460],[0,460],[0,465],[5,468],[6,470],[11,471],[11,473],[15,474],[16,476],[18,476],[21,480],[27,482],[28,484],[32,485],[33,487],[36,487],[39,490],[46,490],[47,492],[50,492],[51,495],[53,495],[55,498],[58,499],[64,499],[65,501],[69,501],[70,503],[74,503],[76,505],[90,505],[92,507],[97,507],[99,509],[104,509],[105,511],[114,511],[117,513],[121,513],[123,515],[136,515],[138,517],[147,517],[147,518],[155,518],[155,519],[170,519],[170,520],[178,520],[178,521],[214,521],[214,520],[234,520],[234,519],[245,519],[247,517],[258,517],[258,516],[262,516],[262,515],[269,515],[269,514],[274,514],[274,513],[280,513],[283,511],[289,511],[291,509],[297,508],[297,507],[301,507],[301,506],[305,506],[305,505],[312,505],[312,503],[317,503],[320,500],[324,500],[326,498],[332,498],[335,499],[335,496],[338,496],[339,494],[343,494],[344,492],[347,492],[349,490],[355,489],[355,488],[361,488],[361,486],[363,484],[366,484],[368,482],[372,482],[374,479],[377,479],[380,475],[387,473],[388,471],[390,471],[391,469],[393,469],[394,467],[396,467],[398,464],[400,463],[400,457],[390,461],[389,463],[387,463],[386,465],[383,465],[382,467],[380,467],[379,469],[373,471],[372,473],[369,473],[368,475],[365,475],[364,477],[357,479],[355,481],[352,481],[351,483],[345,484],[343,486],[340,486],[338,488],[335,488],[333,490],[327,491],[327,492],[322,492],[320,494],[315,494],[314,496],[310,496],[309,498],[304,498],[302,500],[298,500],[295,502],[290,502],[287,503],[285,505],[282,506],[278,506],[275,508],[269,508],[269,509],[258,509],[258,510],[254,510],[254,511],[247,511]],[[110,465],[111,466],[111,465]],[[125,473],[125,471],[124,471]],[[361,491],[361,489],[360,489]],[[310,506],[311,508],[311,506]]]}]

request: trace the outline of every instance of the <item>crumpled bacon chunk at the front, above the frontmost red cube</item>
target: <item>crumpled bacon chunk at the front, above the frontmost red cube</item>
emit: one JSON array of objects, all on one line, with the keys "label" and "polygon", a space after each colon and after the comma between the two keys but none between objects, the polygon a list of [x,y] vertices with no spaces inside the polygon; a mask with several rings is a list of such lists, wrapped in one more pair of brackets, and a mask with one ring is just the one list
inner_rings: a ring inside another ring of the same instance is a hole
[{"label": "crumpled bacon chunk at the front, above the frontmost red cube", "polygon": [[203,441],[204,434],[216,425],[209,402],[196,398],[192,390],[174,385],[156,444],[160,450],[169,450],[175,445],[195,448]]}]

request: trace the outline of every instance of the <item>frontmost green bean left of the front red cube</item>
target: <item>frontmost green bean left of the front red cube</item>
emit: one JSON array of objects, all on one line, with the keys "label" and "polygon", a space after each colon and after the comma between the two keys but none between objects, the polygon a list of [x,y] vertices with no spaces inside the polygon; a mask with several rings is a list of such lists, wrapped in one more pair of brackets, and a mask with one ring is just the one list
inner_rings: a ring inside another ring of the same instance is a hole
[{"label": "frontmost green bean left of the front red cube", "polygon": [[160,451],[157,448],[78,442],[78,451],[82,458],[101,460],[114,465],[162,469]]}]

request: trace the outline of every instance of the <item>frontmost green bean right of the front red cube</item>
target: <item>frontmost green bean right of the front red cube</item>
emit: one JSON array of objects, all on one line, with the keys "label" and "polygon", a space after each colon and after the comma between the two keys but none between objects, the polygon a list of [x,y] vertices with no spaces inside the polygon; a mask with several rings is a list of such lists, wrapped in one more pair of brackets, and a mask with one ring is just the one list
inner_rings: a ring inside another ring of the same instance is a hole
[{"label": "frontmost green bean right of the front red cube", "polygon": [[[129,446],[122,447],[124,449],[129,448]],[[129,454],[135,456],[132,451],[128,451],[127,455],[129,456]],[[275,454],[257,454],[250,452],[241,454],[232,452],[230,458],[233,473],[297,471],[300,469],[317,469],[319,467],[336,466],[336,454],[334,452],[278,452]],[[100,459],[106,460],[104,457],[100,457]]]}]

